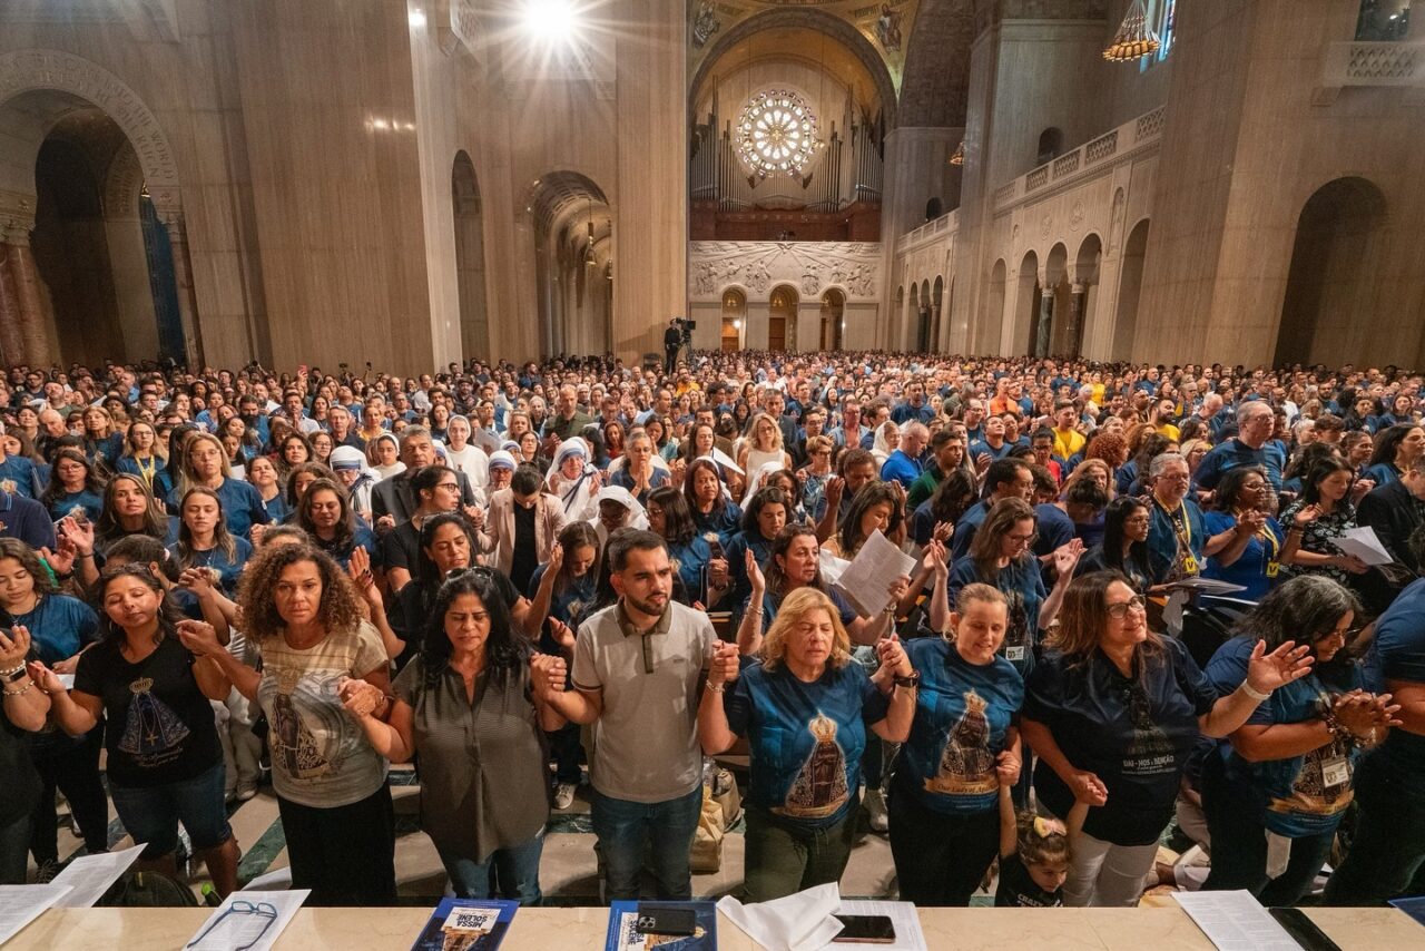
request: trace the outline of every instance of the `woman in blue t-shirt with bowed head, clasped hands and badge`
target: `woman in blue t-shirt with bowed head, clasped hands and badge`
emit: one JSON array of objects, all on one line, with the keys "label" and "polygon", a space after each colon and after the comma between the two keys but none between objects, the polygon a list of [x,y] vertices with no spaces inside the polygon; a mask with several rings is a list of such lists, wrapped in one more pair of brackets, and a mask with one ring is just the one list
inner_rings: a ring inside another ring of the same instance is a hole
[{"label": "woman in blue t-shirt with bowed head, clasped hands and badge", "polygon": [[[1213,841],[1204,888],[1245,888],[1264,905],[1292,905],[1331,853],[1354,797],[1355,761],[1398,724],[1389,694],[1361,690],[1345,654],[1359,613],[1355,596],[1330,577],[1294,577],[1267,595],[1207,664],[1220,694],[1247,677],[1253,644],[1287,637],[1311,646],[1315,666],[1278,687],[1203,768],[1203,807]],[[1287,853],[1275,875],[1273,857]]]}]

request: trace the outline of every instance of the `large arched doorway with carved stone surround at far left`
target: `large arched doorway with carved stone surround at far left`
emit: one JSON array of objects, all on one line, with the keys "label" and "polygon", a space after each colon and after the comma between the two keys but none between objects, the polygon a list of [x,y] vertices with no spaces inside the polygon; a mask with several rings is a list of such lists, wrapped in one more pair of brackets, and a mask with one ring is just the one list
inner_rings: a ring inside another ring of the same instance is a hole
[{"label": "large arched doorway with carved stone surround at far left", "polygon": [[177,163],[118,77],[0,56],[0,359],[201,362]]}]

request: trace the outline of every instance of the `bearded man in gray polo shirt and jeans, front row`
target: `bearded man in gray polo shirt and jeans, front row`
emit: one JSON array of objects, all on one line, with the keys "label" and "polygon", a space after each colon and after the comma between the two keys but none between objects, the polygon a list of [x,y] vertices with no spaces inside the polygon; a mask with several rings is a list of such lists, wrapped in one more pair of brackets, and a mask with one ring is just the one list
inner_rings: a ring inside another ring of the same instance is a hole
[{"label": "bearded man in gray polo shirt and jeans, front row", "polygon": [[594,724],[593,826],[608,898],[638,898],[650,836],[658,898],[690,898],[688,848],[703,807],[698,690],[717,634],[707,615],[673,600],[663,538],[623,532],[608,559],[618,603],[580,624],[574,689],[550,703]]}]

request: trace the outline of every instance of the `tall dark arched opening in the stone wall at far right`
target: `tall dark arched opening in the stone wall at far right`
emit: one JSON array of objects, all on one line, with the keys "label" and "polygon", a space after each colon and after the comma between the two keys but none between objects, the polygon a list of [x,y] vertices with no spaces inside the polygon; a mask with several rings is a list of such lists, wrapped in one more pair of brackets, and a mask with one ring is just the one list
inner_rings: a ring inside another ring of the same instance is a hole
[{"label": "tall dark arched opening in the stone wall at far right", "polygon": [[1337,178],[1307,200],[1287,272],[1275,364],[1332,362],[1371,351],[1385,197],[1365,178]]}]

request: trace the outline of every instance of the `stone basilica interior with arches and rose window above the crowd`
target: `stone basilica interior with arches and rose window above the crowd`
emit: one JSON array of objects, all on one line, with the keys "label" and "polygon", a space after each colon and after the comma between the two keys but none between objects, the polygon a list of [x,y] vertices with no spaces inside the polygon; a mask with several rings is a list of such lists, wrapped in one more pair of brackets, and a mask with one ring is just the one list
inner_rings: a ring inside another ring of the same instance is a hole
[{"label": "stone basilica interior with arches and rose window above the crowd", "polygon": [[0,358],[1421,366],[1409,6],[0,0]]}]

